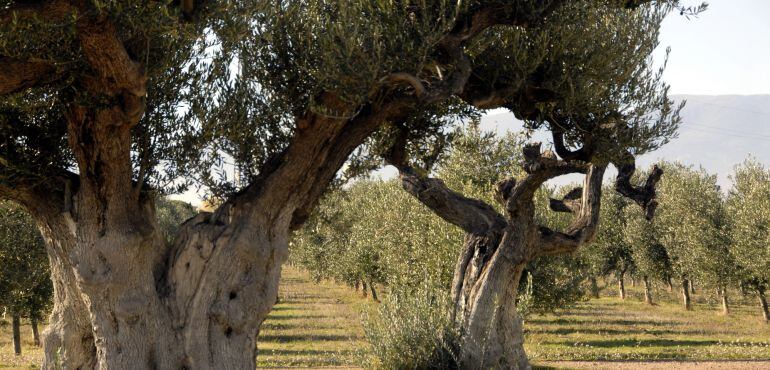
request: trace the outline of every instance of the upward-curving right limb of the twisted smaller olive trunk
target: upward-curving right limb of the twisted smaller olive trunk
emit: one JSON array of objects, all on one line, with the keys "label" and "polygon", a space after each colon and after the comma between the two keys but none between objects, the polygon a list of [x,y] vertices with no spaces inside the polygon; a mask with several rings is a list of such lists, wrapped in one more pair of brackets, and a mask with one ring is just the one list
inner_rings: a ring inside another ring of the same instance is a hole
[{"label": "upward-curving right limb of the twisted smaller olive trunk", "polygon": [[605,169],[606,165],[596,164],[592,164],[588,169],[582,188],[578,216],[564,232],[553,231],[544,226],[539,227],[540,238],[537,243],[539,249],[535,251],[536,257],[571,253],[593,239],[599,225]]}]

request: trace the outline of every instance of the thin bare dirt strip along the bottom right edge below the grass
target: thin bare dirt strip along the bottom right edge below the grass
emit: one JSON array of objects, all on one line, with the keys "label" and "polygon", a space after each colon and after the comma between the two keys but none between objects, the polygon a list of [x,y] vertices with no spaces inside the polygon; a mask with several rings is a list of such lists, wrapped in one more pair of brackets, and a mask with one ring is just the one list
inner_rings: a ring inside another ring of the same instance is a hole
[{"label": "thin bare dirt strip along the bottom right edge below the grass", "polygon": [[770,361],[550,361],[538,363],[554,369],[607,370],[770,370]]}]

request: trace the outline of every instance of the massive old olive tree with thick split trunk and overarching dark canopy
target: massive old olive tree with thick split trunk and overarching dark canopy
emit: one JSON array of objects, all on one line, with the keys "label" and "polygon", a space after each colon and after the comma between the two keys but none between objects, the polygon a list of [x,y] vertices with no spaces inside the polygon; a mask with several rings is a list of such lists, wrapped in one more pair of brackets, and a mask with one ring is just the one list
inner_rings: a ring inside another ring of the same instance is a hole
[{"label": "massive old olive tree with thick split trunk and overarching dark canopy", "polygon": [[[651,191],[626,180],[633,154],[675,126],[657,75],[641,67],[673,6],[0,1],[0,197],[22,204],[48,240],[55,305],[43,366],[253,368],[290,230],[356,148],[388,125],[431,136],[446,121],[425,118],[458,105],[506,107],[554,131],[566,161],[530,148],[526,194],[575,170],[600,179],[615,161],[619,188],[648,205]],[[639,114],[658,108],[656,124]],[[223,202],[168,246],[153,200],[190,182]],[[504,193],[510,210],[529,197]],[[581,220],[593,224],[592,212]],[[501,358],[464,348],[466,364]]]}]

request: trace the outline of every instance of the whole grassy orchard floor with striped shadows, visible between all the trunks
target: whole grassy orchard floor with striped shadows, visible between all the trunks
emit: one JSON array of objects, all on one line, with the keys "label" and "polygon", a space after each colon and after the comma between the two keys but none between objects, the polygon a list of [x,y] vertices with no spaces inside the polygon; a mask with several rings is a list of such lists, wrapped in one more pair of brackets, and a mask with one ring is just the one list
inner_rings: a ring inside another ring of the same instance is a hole
[{"label": "whole grassy orchard floor with striped shadows, visible between all the trunks", "polygon": [[[356,368],[365,363],[368,344],[360,312],[376,303],[347,287],[316,284],[293,267],[284,270],[281,284],[280,302],[260,333],[260,367]],[[687,312],[679,307],[678,296],[665,289],[655,292],[655,306],[641,303],[638,288],[628,290],[625,301],[611,296],[615,291],[608,288],[600,299],[528,318],[526,347],[533,363],[547,368],[770,369],[770,325],[761,322],[753,300],[734,299],[732,313],[723,316],[707,292],[698,291],[694,310]],[[24,355],[16,357],[10,325],[0,327],[0,367],[38,363],[41,350],[31,345],[29,326],[23,330]],[[720,361],[694,362],[703,360]]]}]

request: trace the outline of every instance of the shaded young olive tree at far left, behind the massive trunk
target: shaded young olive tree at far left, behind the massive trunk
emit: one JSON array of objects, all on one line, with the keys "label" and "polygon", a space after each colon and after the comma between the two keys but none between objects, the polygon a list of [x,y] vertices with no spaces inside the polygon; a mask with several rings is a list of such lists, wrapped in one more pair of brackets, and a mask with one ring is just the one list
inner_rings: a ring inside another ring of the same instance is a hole
[{"label": "shaded young olive tree at far left, behind the massive trunk", "polygon": [[13,321],[13,347],[21,354],[20,324],[28,317],[34,343],[40,345],[38,323],[50,307],[53,288],[43,238],[20,206],[0,201],[0,307]]}]

